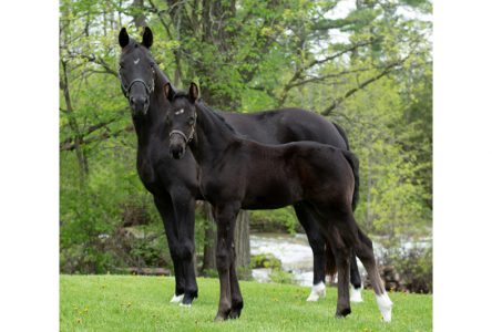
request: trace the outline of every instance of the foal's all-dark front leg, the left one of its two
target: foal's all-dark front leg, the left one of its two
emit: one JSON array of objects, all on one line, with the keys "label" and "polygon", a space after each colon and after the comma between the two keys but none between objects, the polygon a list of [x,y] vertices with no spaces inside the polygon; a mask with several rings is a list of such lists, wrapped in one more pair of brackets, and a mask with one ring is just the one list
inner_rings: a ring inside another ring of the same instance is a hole
[{"label": "foal's all-dark front leg, the left one of its two", "polygon": [[234,226],[238,211],[238,205],[214,206],[214,217],[217,222],[215,260],[221,282],[221,298],[215,321],[226,320],[232,310],[230,271],[234,269]]}]

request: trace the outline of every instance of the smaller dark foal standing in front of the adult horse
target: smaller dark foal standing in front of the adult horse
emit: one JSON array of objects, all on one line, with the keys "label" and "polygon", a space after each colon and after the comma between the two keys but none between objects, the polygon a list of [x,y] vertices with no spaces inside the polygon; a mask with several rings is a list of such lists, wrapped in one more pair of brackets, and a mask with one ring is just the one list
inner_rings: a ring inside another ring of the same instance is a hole
[{"label": "smaller dark foal standing in front of the adult horse", "polygon": [[166,121],[170,153],[184,157],[189,146],[199,167],[199,189],[217,222],[216,264],[221,297],[216,321],[240,315],[243,297],[235,270],[234,228],[239,209],[276,209],[303,204],[328,238],[338,270],[336,317],[350,313],[349,258],[355,250],[375,289],[385,321],[392,302],[379,277],[371,240],[357,227],[352,203],[358,160],[346,151],[317,142],[281,145],[244,138],[217,113],[198,102],[198,87],[187,94],[164,85],[171,102]]}]

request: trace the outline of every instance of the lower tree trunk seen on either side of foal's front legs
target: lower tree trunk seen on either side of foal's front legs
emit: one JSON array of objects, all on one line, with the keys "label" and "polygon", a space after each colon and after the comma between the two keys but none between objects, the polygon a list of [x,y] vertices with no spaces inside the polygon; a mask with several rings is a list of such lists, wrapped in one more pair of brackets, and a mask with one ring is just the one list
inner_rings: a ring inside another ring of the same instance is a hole
[{"label": "lower tree trunk seen on either side of foal's front legs", "polygon": [[[215,243],[217,238],[217,228],[212,215],[212,206],[205,203],[205,245],[202,273],[209,274],[209,270],[216,270],[215,263]],[[245,210],[240,210],[236,219],[236,228],[234,230],[234,248],[236,251],[236,269],[239,279],[249,279],[252,271],[250,248],[249,248],[249,215]]]}]

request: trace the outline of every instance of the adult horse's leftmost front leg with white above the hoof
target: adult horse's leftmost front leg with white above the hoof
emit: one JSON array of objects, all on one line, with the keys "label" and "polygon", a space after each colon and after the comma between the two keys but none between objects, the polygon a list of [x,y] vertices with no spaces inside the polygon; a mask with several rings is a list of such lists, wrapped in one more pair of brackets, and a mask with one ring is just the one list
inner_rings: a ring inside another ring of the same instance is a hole
[{"label": "adult horse's leftmost front leg with white above the hoof", "polygon": [[171,302],[180,303],[184,298],[185,280],[178,258],[180,246],[176,236],[176,219],[174,216],[173,203],[171,200],[171,196],[168,196],[167,194],[162,194],[158,196],[154,195],[154,203],[164,224],[167,245],[170,246],[171,259],[173,260],[174,266],[175,290]]}]

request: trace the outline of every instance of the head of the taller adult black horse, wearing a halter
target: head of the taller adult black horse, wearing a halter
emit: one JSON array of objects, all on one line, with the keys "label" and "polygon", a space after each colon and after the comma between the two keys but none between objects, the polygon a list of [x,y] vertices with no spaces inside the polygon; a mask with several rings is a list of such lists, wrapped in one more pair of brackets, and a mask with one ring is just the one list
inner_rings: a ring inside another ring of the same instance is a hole
[{"label": "head of the taller adult black horse, wearing a halter", "polygon": [[146,27],[142,42],[137,43],[122,28],[119,42],[122,48],[119,70],[121,89],[129,98],[133,116],[145,115],[155,80],[155,62],[148,51],[153,42],[152,31]]}]

